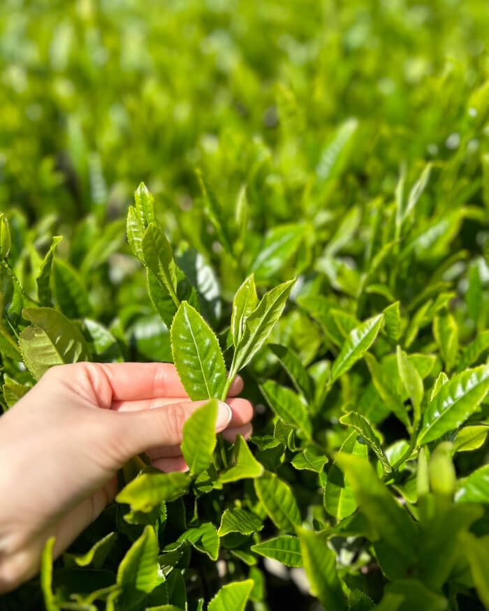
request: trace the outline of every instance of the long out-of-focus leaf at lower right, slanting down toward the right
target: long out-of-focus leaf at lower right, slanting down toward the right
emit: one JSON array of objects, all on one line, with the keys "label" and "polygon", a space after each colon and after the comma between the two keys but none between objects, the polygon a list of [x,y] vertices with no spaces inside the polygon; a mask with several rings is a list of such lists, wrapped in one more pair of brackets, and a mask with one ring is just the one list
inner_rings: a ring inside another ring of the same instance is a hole
[{"label": "long out-of-focus leaf at lower right, slanting down toward the right", "polygon": [[417,529],[409,513],[396,503],[365,459],[340,452],[336,462],[348,478],[358,507],[379,534],[374,550],[383,572],[391,580],[406,576],[416,564]]}]

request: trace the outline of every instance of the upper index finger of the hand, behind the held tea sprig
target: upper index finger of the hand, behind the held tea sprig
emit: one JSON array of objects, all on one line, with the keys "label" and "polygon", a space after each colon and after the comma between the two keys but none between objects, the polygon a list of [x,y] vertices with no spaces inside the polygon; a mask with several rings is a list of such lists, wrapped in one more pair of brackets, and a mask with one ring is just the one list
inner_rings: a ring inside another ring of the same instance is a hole
[{"label": "upper index finger of the hand, behind the held tea sprig", "polygon": [[[113,401],[188,397],[172,363],[103,363],[98,367],[110,383]],[[242,378],[236,376],[228,396],[236,397],[242,389]]]}]

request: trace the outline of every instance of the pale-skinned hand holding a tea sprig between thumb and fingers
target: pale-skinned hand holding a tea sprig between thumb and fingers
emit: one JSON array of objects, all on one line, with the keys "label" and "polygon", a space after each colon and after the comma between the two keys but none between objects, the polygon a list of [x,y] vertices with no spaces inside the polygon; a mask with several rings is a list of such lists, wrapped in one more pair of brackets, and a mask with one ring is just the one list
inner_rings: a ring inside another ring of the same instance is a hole
[{"label": "pale-skinned hand holding a tea sprig between thumb and fingers", "polygon": [[[251,434],[253,407],[231,384],[217,432]],[[161,471],[185,471],[187,397],[167,363],[52,367],[0,418],[0,593],[38,573],[46,540],[59,556],[117,494],[117,471],[146,452]]]}]

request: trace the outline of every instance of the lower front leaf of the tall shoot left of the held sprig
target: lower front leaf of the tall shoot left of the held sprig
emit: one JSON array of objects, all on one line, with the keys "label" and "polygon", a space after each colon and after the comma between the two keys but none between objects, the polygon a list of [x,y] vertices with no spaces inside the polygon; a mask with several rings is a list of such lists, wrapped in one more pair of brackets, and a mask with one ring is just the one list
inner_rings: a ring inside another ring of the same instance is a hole
[{"label": "lower front leaf of the tall shoot left of the held sprig", "polygon": [[168,290],[175,306],[178,306],[180,300],[177,297],[177,266],[173,260],[170,242],[157,223],[148,225],[141,246],[149,272]]}]

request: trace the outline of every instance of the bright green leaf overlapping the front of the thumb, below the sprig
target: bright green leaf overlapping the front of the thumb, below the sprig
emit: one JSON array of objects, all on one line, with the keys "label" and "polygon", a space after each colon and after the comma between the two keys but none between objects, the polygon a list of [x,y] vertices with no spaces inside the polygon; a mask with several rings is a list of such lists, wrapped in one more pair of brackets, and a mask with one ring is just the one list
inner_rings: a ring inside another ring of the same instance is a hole
[{"label": "bright green leaf overlapping the front of the thumb, below the sprig", "polygon": [[183,427],[182,455],[191,475],[205,471],[212,462],[216,447],[217,401],[198,408]]}]

